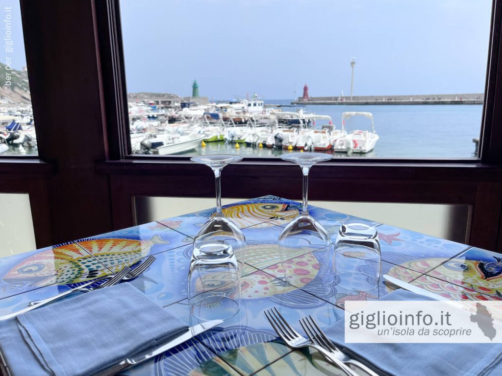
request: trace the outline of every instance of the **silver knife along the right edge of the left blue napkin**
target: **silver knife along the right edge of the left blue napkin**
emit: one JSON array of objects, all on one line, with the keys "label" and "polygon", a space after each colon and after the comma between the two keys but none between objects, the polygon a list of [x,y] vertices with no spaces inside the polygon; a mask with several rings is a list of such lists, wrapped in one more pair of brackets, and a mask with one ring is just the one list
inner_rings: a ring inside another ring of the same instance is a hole
[{"label": "silver knife along the right edge of the left blue napkin", "polygon": [[107,368],[101,372],[96,373],[95,376],[111,376],[115,373],[133,367],[137,364],[144,362],[154,356],[162,354],[164,351],[170,350],[171,348],[188,341],[190,338],[195,337],[197,334],[200,334],[216,325],[219,325],[223,322],[223,320],[211,320],[203,322],[202,324],[197,324],[189,327],[183,334],[180,336],[170,340],[169,342],[164,343],[160,347],[157,347],[155,350],[147,350],[133,357],[129,357],[121,360],[120,362],[112,365],[110,368]]}]

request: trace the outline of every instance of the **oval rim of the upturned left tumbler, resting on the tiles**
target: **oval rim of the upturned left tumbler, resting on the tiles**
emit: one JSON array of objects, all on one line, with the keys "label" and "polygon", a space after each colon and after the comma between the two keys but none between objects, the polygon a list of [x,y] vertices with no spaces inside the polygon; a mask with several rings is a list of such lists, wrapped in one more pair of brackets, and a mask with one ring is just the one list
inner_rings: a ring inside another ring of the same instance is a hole
[{"label": "oval rim of the upturned left tumbler, resting on the tiles", "polygon": [[224,320],[237,314],[240,304],[227,296],[214,295],[194,299],[190,314],[199,320]]}]

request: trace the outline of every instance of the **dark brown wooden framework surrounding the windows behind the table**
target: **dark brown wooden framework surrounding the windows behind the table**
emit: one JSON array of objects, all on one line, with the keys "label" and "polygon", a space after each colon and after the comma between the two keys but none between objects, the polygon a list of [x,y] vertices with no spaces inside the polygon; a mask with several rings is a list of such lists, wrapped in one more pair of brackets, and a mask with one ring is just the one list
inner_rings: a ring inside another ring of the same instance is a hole
[{"label": "dark brown wooden framework surrounding the windows behind the table", "polygon": [[[133,225],[135,196],[214,195],[210,171],[187,157],[129,155],[118,6],[21,0],[43,162],[1,159],[0,192],[30,194],[38,246]],[[501,32],[502,1],[494,0],[479,159],[337,158],[312,170],[310,197],[469,205],[466,241],[502,251]],[[297,167],[277,159],[246,158],[223,179],[225,197],[301,197]]]}]

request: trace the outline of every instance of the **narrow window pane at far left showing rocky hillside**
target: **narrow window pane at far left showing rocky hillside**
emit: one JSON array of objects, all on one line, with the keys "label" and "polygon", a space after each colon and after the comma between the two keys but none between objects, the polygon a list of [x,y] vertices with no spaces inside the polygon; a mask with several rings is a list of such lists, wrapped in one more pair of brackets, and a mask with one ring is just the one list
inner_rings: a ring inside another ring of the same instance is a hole
[{"label": "narrow window pane at far left showing rocky hillside", "polygon": [[0,156],[38,154],[19,0],[2,3]]}]

